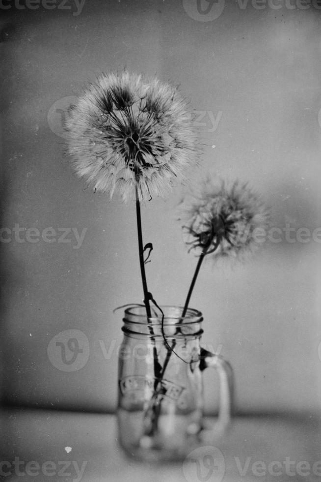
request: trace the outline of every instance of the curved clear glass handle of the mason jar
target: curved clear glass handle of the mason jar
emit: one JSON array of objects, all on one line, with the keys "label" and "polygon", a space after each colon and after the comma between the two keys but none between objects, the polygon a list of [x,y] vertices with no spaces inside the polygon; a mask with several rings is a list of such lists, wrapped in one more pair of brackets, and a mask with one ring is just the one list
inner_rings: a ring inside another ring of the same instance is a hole
[{"label": "curved clear glass handle of the mason jar", "polygon": [[213,367],[218,372],[220,383],[219,411],[218,420],[210,429],[203,429],[202,438],[207,441],[221,436],[231,422],[233,409],[233,370],[230,363],[219,355],[215,355],[204,348],[200,353],[200,370],[203,371],[208,366]]}]

